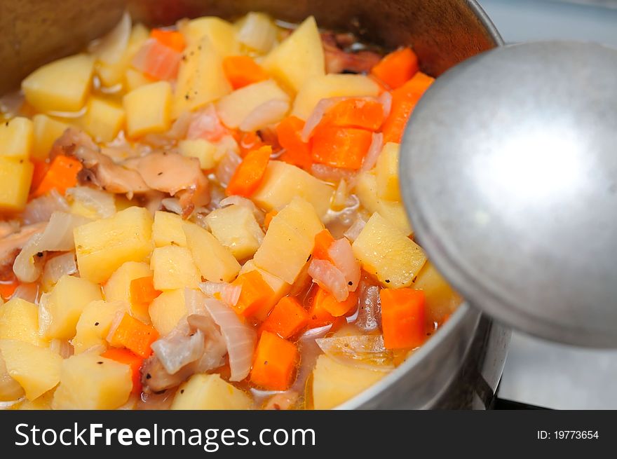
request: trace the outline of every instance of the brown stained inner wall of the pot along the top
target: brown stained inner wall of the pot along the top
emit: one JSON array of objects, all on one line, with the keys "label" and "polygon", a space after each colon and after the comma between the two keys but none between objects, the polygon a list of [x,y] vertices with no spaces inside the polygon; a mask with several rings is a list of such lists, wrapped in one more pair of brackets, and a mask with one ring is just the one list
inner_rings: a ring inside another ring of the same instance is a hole
[{"label": "brown stained inner wall of the pot along the top", "polygon": [[501,43],[470,0],[2,0],[0,94],[41,64],[83,49],[127,7],[147,25],[200,15],[237,18],[248,11],[290,22],[312,14],[322,27],[352,31],[386,48],[414,46],[423,70],[434,76]]}]

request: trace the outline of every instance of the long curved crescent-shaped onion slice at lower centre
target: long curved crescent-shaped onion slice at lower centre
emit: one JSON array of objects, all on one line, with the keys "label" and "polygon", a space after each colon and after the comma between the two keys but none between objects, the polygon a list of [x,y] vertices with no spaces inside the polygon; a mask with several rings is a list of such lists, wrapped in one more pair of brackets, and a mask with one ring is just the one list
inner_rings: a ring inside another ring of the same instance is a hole
[{"label": "long curved crescent-shaped onion slice at lower centre", "polygon": [[207,298],[205,308],[221,329],[227,344],[231,376],[229,381],[242,381],[250,371],[255,341],[255,330],[248,324],[240,322],[238,315],[222,301]]}]

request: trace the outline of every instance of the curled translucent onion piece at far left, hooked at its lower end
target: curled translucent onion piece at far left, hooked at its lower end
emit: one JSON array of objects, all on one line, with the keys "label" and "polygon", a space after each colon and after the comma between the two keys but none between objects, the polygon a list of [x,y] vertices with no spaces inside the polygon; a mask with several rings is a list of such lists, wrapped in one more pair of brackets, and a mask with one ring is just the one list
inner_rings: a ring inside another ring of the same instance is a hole
[{"label": "curled translucent onion piece at far left, hooked at its lower end", "polygon": [[88,223],[90,219],[81,215],[54,212],[45,231],[35,234],[15,259],[13,271],[22,282],[34,282],[41,275],[41,266],[34,262],[40,252],[67,252],[75,248],[73,230]]}]

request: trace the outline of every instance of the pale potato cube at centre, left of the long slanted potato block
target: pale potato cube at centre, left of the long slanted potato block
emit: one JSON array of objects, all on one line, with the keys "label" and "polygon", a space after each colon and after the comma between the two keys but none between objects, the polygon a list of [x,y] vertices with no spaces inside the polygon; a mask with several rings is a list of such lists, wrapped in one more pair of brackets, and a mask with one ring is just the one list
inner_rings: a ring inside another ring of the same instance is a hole
[{"label": "pale potato cube at centre, left of the long slanted potato block", "polygon": [[238,260],[253,256],[264,240],[264,232],[252,210],[243,205],[229,205],[208,214],[205,221],[222,245]]}]

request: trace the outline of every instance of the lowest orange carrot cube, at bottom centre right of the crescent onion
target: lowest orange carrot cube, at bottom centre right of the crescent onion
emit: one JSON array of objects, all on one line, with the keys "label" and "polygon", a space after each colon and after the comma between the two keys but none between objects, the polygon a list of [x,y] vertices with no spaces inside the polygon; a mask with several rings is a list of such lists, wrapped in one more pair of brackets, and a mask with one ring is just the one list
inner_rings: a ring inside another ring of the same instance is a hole
[{"label": "lowest orange carrot cube, at bottom centre right of the crescent onion", "polygon": [[287,390],[294,381],[299,359],[293,343],[264,331],[255,350],[250,381],[266,390]]}]

